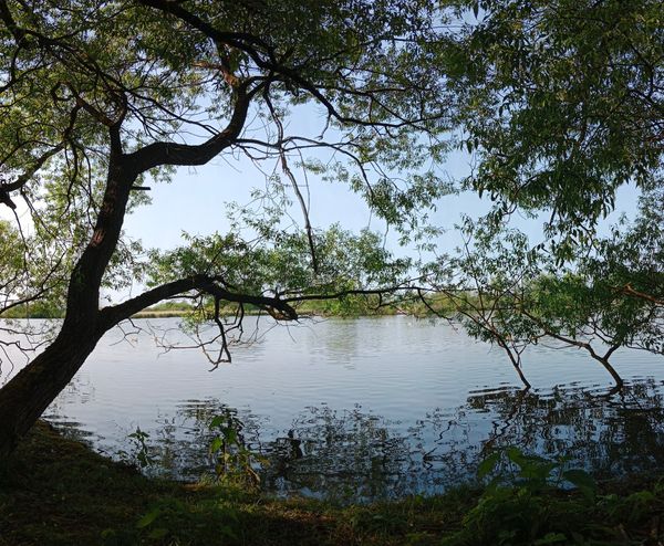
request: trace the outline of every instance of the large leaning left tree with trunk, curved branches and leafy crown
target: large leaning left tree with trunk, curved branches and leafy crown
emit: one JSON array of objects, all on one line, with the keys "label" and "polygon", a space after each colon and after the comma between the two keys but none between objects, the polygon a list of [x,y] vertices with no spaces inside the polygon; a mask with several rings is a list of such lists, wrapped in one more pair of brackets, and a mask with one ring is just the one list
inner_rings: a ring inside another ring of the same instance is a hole
[{"label": "large leaning left tree with trunk, curved branches and leafy crown", "polygon": [[[0,455],[106,330],[164,298],[211,298],[224,358],[224,302],[294,319],[308,297],[380,292],[384,275],[349,285],[326,271],[376,241],[338,232],[347,251],[325,253],[291,169],[302,150],[329,150],[328,169],[392,223],[415,227],[414,211],[447,190],[427,167],[449,117],[432,62],[446,31],[430,2],[1,0],[0,18],[0,200],[6,210],[22,200],[32,219],[25,237],[2,224],[2,245],[17,255],[3,309],[43,298],[65,308],[53,340],[0,390]],[[304,104],[324,114],[318,138],[287,132]],[[230,234],[157,256],[153,270],[137,262],[122,228],[147,201],[144,181],[237,151],[279,161],[304,231],[287,237],[272,225],[274,238],[260,244]],[[313,274],[302,272],[303,251]],[[361,265],[384,270],[377,262]],[[100,308],[102,287],[144,275],[149,290]]]}]

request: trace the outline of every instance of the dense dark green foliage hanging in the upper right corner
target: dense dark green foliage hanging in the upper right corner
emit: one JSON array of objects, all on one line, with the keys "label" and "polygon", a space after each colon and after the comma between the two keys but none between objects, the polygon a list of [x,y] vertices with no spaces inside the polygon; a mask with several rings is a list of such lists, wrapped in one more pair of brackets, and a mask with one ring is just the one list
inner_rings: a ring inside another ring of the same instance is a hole
[{"label": "dense dark green foliage hanging in the upper right corner", "polygon": [[[470,2],[463,2],[468,7]],[[487,0],[449,56],[478,166],[466,186],[550,211],[561,251],[589,244],[615,190],[662,180],[664,15],[656,0]],[[590,231],[589,231],[590,228]]]}]

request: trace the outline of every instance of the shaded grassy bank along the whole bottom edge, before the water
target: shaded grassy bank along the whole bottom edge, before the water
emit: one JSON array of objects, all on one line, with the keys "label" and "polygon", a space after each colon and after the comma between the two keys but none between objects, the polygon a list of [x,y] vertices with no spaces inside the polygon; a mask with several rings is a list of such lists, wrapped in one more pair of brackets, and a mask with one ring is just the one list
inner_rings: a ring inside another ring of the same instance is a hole
[{"label": "shaded grassy bank along the whole bottom edge, before the water", "polygon": [[278,501],[148,480],[39,423],[0,474],[0,546],[662,544],[657,481],[600,490],[457,490],[345,507]]}]

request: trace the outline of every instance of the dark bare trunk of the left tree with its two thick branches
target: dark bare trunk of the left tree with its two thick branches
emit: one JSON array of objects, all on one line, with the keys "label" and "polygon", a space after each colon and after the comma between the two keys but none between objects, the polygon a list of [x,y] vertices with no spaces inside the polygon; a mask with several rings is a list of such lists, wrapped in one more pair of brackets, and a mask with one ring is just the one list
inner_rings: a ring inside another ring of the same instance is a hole
[{"label": "dark bare trunk of the left tree with its two thick branches", "polygon": [[104,198],[92,237],[72,271],[62,329],[42,354],[0,389],[0,463],[72,380],[104,333],[165,296],[197,288],[216,297],[256,303],[277,308],[288,317],[297,317],[294,309],[281,300],[234,294],[206,277],[169,283],[124,304],[98,308],[102,277],[117,246],[129,192],[137,177],[159,165],[203,165],[231,146],[245,125],[251,97],[260,88],[257,86],[247,92],[248,85],[245,82],[235,88],[235,109],[227,127],[197,146],[155,143],[133,154],[124,154],[121,141],[123,116],[108,127]]}]

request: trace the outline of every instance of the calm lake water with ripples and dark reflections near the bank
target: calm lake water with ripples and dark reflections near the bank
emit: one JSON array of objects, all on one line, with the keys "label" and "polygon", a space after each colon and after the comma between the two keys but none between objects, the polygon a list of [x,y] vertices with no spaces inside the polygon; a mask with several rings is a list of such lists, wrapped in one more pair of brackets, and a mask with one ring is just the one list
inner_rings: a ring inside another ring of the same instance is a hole
[{"label": "calm lake water with ripples and dark reflections near the bank", "polygon": [[[246,336],[255,326],[247,324]],[[46,412],[95,449],[132,456],[137,427],[159,462],[153,473],[195,480],[209,471],[208,423],[231,414],[270,463],[278,494],[369,500],[434,493],[473,475],[490,448],[568,454],[599,473],[664,463],[664,358],[624,351],[627,386],[584,353],[538,346],[525,355],[522,391],[507,357],[445,322],[330,319],[268,329],[209,371],[178,319],[111,332]]]}]

